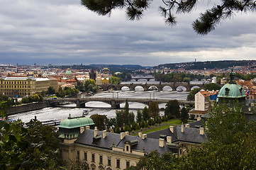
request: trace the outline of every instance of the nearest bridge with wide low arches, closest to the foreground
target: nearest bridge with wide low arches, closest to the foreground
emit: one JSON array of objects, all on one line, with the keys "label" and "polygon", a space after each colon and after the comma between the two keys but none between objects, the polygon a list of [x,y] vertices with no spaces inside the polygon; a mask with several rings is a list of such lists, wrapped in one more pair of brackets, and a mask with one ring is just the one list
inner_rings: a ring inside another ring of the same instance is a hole
[{"label": "nearest bridge with wide low arches, closest to the foreground", "polygon": [[[165,99],[147,99],[147,98],[58,98],[48,99],[50,106],[58,106],[60,103],[76,103],[78,108],[85,108],[85,103],[89,101],[101,101],[111,105],[111,108],[120,108],[121,103],[125,103],[126,99],[128,102],[137,102],[149,105],[150,102],[156,101],[157,103],[167,103],[169,100]],[[185,106],[186,104],[193,105],[192,101],[179,101],[179,104]]]}]

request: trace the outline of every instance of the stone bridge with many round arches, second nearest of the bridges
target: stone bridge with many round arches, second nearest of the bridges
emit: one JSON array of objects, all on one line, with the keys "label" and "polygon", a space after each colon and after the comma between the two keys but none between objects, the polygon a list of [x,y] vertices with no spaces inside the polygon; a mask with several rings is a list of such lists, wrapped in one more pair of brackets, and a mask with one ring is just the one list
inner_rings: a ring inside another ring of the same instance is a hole
[{"label": "stone bridge with many round arches, second nearest of the bridges", "polygon": [[156,86],[158,91],[162,91],[162,89],[165,86],[171,87],[172,91],[177,91],[177,88],[182,87],[182,86],[184,86],[187,89],[186,91],[191,91],[191,89],[194,86],[198,86],[199,88],[204,89],[204,84],[189,84],[189,83],[186,83],[186,82],[179,82],[179,83],[171,82],[171,83],[165,83],[165,84],[161,84],[161,83],[160,84],[150,84],[150,81],[149,81],[149,83],[145,83],[145,84],[133,84],[133,83],[131,83],[131,84],[102,84],[102,85],[99,85],[99,86],[101,86],[101,89],[103,89],[103,91],[107,91],[108,89],[121,91],[123,86],[127,86],[130,89],[130,91],[135,91],[136,86],[143,87],[144,91],[148,91],[150,89],[150,86]]}]

